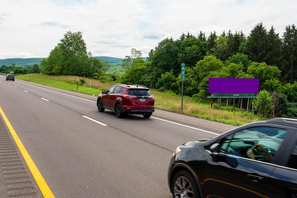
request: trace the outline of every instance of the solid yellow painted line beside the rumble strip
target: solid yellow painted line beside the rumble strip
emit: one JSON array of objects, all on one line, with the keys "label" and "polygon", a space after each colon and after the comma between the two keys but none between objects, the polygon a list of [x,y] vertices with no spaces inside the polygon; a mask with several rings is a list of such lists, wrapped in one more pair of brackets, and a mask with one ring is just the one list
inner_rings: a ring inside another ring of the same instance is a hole
[{"label": "solid yellow painted line beside the rumble strip", "polygon": [[52,191],[50,190],[50,188],[48,187],[48,184],[45,182],[44,178],[42,177],[41,173],[39,172],[37,166],[35,165],[34,161],[32,160],[32,158],[30,157],[28,151],[26,150],[25,146],[23,145],[23,143],[20,141],[20,138],[18,137],[18,134],[15,132],[15,129],[12,127],[10,121],[8,120],[8,118],[6,117],[4,111],[2,110],[1,106],[0,106],[0,114],[2,115],[8,129],[10,130],[10,133],[13,137],[13,139],[15,140],[15,143],[17,144],[18,148],[20,149],[20,153],[22,153],[23,158],[25,159],[41,193],[43,194],[43,196],[45,198],[51,198],[51,197],[55,197],[52,193]]}]

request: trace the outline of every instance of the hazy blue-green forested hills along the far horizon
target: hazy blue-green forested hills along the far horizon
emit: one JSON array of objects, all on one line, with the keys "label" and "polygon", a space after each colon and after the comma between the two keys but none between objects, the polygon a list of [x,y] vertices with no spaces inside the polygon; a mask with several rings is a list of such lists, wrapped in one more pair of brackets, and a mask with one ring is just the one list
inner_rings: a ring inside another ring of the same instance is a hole
[{"label": "hazy blue-green forested hills along the far horizon", "polygon": [[[108,64],[113,63],[120,63],[122,62],[123,58],[115,58],[109,56],[94,56],[94,58],[99,58],[102,61],[108,61]],[[12,63],[16,64],[16,66],[24,66],[29,67],[33,66],[34,64],[39,64],[43,58],[6,58],[0,59],[0,66],[2,65],[11,65]],[[146,60],[146,57],[142,57],[143,60]]]}]

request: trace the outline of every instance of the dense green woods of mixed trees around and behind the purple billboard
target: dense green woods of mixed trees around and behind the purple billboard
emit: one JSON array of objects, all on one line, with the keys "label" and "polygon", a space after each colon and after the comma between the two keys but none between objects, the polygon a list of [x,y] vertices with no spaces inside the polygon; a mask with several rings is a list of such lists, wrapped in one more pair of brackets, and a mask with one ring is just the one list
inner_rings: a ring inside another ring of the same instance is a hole
[{"label": "dense green woods of mixed trees around and behind the purple billboard", "polygon": [[220,35],[213,31],[208,37],[202,31],[197,36],[183,33],[179,39],[171,37],[160,41],[149,52],[146,62],[136,59],[127,69],[127,60],[122,64],[123,83],[144,84],[176,94],[181,93],[180,70],[181,63],[185,63],[184,94],[199,101],[206,101],[209,96],[210,77],[259,78],[260,90],[271,93],[270,101],[274,91],[278,100],[282,100],[278,105],[285,110],[279,109],[279,112],[297,116],[297,30],[294,24],[285,27],[282,37],[273,26],[267,30],[263,23],[256,24],[248,36],[231,30]]}]

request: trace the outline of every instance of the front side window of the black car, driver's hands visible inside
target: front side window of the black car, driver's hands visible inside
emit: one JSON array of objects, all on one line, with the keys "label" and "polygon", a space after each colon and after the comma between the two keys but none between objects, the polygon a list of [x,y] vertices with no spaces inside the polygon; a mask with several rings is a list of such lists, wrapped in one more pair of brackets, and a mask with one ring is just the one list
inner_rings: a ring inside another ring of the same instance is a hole
[{"label": "front side window of the black car, driver's hands visible inside", "polygon": [[225,153],[248,159],[271,162],[288,131],[255,127],[234,134]]}]

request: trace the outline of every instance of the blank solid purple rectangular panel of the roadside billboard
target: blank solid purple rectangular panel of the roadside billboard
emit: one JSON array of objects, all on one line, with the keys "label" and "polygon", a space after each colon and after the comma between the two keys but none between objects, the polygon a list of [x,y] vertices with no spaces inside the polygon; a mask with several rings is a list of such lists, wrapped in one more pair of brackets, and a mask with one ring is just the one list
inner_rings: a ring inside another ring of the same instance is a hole
[{"label": "blank solid purple rectangular panel of the roadside billboard", "polygon": [[259,93],[259,79],[209,78],[209,93]]}]

